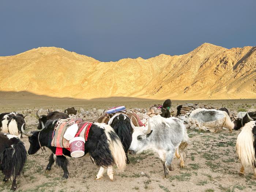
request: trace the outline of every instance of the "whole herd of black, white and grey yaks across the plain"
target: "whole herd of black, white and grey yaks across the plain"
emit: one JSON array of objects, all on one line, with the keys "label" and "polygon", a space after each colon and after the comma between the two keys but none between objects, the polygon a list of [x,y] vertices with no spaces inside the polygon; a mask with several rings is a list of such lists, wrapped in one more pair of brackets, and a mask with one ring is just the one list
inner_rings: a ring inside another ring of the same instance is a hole
[{"label": "whole herd of black, white and grey yaks across the plain", "polygon": [[[162,108],[163,110],[169,110]],[[76,113],[76,111],[75,111]],[[162,114],[167,112],[163,111]],[[253,178],[256,179],[256,112],[248,112],[241,118],[231,121],[228,111],[215,109],[196,109],[187,114],[184,121],[196,120],[204,126],[218,126],[241,132],[237,138],[236,150],[241,169],[239,174],[244,174],[245,167],[252,167]],[[0,114],[0,169],[4,174],[4,182],[12,177],[11,190],[16,190],[16,178],[23,173],[27,153],[33,155],[45,147],[52,151],[46,170],[51,170],[54,162],[63,169],[63,178],[68,178],[68,160],[70,151],[63,148],[62,154],[56,153],[56,147],[51,145],[54,128],[60,119],[69,118],[67,113],[49,112],[39,116],[38,130],[26,132],[26,123],[23,114],[15,112]],[[172,160],[174,154],[180,158],[180,167],[184,167],[183,152],[188,146],[187,129],[184,121],[177,117],[150,117],[143,126],[134,125],[133,117],[128,117],[125,112],[118,112],[108,123],[93,122],[90,127],[84,153],[89,153],[93,163],[99,166],[96,176],[98,180],[105,170],[110,180],[113,180],[113,166],[124,170],[129,163],[128,154],[135,155],[144,150],[151,149],[159,154],[163,164],[164,177],[173,170]],[[214,122],[214,123],[212,123]],[[22,134],[28,136],[30,147],[26,151],[24,143],[19,139]]]}]

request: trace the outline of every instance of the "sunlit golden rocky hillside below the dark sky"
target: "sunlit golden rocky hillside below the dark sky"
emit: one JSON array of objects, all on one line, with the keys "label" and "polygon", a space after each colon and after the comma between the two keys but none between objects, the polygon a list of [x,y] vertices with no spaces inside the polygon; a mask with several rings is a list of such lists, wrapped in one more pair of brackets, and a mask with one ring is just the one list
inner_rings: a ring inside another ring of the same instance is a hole
[{"label": "sunlit golden rocky hillside below the dark sky", "polygon": [[101,62],[55,47],[0,57],[0,91],[81,99],[256,98],[256,47],[202,44],[180,56]]}]

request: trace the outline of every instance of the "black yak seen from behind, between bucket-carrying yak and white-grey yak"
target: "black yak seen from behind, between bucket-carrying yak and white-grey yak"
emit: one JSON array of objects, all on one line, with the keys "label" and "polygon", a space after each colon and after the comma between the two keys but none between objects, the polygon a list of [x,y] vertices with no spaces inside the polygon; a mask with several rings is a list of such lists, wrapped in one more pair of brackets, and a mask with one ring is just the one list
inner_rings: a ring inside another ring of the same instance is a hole
[{"label": "black yak seen from behind, between bucket-carrying yak and white-grey yak", "polygon": [[120,138],[126,155],[126,163],[129,163],[127,153],[132,143],[132,126],[130,123],[130,118],[125,114],[118,114],[117,116],[113,117],[113,119],[110,118],[108,124],[114,129],[114,131]]}]

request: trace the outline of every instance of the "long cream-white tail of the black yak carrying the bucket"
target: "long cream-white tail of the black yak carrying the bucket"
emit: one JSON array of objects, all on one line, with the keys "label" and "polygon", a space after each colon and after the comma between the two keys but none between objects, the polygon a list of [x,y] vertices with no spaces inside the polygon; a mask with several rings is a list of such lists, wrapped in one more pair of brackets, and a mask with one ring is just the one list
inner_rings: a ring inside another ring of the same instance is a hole
[{"label": "long cream-white tail of the black yak carrying the bucket", "polygon": [[109,149],[113,156],[114,162],[120,171],[123,171],[126,166],[126,157],[123,145],[118,138],[114,129],[110,125],[104,125],[106,136],[109,140]]}]

